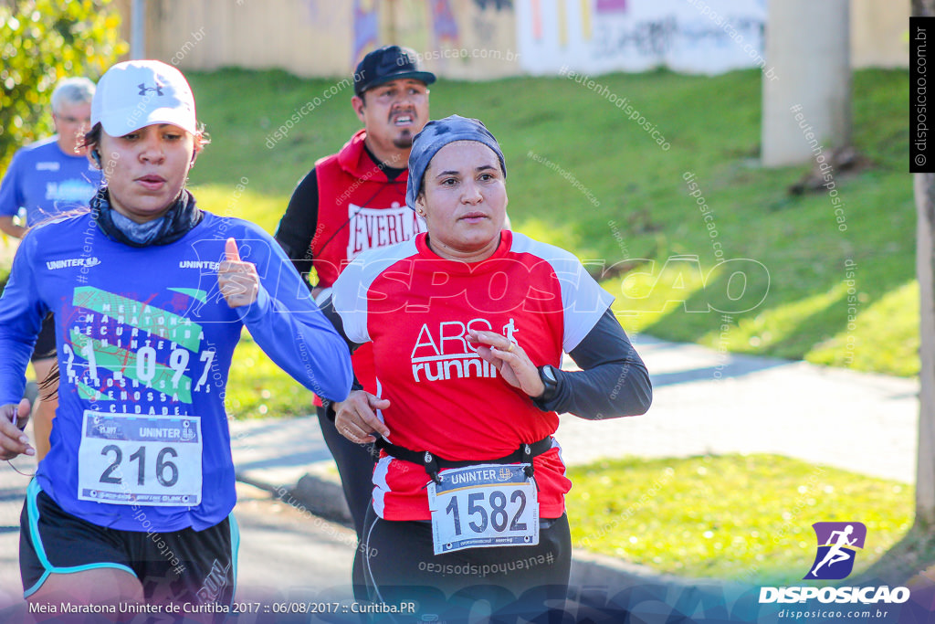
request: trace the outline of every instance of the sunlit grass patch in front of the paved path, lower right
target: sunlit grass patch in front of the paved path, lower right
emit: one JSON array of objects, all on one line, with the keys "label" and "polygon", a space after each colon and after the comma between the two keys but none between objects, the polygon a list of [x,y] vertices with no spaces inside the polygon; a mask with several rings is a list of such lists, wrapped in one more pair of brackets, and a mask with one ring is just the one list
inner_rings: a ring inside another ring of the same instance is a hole
[{"label": "sunlit grass patch in front of the paved path, lower right", "polygon": [[912,486],[773,455],[627,458],[568,478],[573,545],[691,578],[800,584],[818,521],[867,526],[859,574],[913,522]]}]

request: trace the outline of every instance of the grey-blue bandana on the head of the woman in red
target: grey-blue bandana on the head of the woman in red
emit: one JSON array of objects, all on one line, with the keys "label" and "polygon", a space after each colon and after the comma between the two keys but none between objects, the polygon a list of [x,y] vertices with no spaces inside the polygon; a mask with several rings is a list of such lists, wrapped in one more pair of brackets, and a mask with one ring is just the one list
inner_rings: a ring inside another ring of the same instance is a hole
[{"label": "grey-blue bandana on the head of the woman in red", "polygon": [[415,198],[422,190],[422,178],[428,164],[441,148],[454,141],[478,141],[489,147],[500,160],[503,177],[507,177],[507,165],[503,162],[500,145],[480,120],[452,115],[426,123],[422,132],[412,139],[410,175],[409,182],[406,184],[406,204],[412,210],[415,210]]}]

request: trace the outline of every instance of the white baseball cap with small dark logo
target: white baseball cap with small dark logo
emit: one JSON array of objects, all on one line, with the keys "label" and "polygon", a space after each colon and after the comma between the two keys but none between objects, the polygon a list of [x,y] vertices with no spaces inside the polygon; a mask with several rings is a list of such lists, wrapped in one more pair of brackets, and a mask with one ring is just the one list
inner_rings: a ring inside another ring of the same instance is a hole
[{"label": "white baseball cap with small dark logo", "polygon": [[194,135],[192,87],[178,69],[161,61],[118,63],[97,81],[91,102],[94,123],[101,123],[111,137],[153,123],[172,123]]}]

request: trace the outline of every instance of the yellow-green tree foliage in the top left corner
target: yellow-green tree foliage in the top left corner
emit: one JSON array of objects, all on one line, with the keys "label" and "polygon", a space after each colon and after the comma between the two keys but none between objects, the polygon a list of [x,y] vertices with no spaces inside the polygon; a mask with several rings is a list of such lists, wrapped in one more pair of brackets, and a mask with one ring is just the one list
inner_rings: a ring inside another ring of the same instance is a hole
[{"label": "yellow-green tree foliage in the top left corner", "polygon": [[22,145],[51,134],[59,80],[96,81],[126,49],[110,0],[0,2],[0,171]]}]

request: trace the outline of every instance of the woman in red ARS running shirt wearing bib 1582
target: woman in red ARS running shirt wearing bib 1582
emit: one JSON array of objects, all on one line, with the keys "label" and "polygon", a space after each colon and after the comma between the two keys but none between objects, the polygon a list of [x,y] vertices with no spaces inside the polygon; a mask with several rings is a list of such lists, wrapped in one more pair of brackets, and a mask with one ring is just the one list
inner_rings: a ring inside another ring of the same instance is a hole
[{"label": "woman in red ARS running shirt wearing bib 1582", "polygon": [[[558,414],[643,414],[652,400],[613,297],[572,254],[503,229],[505,181],[481,122],[427,123],[407,189],[427,233],[359,255],[325,303],[352,346],[373,342],[379,397],[334,407],[345,437],[381,448],[361,549],[367,594],[390,607],[464,615],[484,599],[528,617],[560,603]],[[559,370],[563,351],[582,370]]]}]

